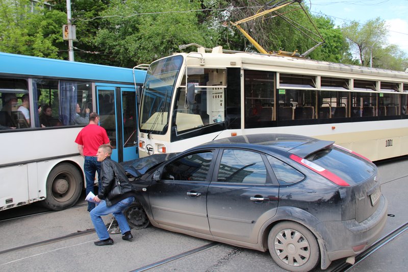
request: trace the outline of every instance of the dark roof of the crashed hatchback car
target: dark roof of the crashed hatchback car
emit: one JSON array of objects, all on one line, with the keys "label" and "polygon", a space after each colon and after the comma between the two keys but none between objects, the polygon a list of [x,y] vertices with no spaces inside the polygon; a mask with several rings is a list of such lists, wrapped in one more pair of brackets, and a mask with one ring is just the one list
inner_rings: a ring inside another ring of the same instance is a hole
[{"label": "dark roof of the crashed hatchback car", "polygon": [[334,141],[324,141],[295,134],[263,133],[222,138],[199,145],[199,147],[225,147],[229,145],[230,147],[245,148],[248,147],[248,144],[251,144],[253,149],[260,151],[281,151],[304,158],[319,150],[326,149],[333,145]]}]

